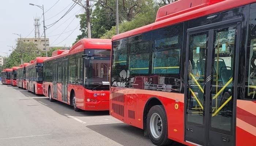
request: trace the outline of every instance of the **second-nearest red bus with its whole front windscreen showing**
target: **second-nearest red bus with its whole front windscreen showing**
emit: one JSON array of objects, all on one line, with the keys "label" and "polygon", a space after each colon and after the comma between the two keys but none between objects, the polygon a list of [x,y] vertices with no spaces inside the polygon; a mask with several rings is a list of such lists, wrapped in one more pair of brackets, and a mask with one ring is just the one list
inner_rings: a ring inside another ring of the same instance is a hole
[{"label": "second-nearest red bus with its whole front windscreen showing", "polygon": [[109,110],[110,39],[81,39],[44,60],[44,95],[75,111]]}]

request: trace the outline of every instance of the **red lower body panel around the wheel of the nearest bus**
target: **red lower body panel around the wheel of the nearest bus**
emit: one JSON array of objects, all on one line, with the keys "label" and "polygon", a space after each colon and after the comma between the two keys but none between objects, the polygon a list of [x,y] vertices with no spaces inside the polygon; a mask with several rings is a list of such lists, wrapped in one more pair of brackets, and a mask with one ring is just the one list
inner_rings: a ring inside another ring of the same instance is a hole
[{"label": "red lower body panel around the wheel of the nearest bus", "polygon": [[[158,99],[166,111],[168,138],[184,143],[184,94],[158,91],[145,92],[141,89],[117,87],[112,87],[110,91],[110,115],[141,129],[143,129],[143,114],[147,101],[152,98]],[[120,109],[120,107],[124,108]],[[123,116],[120,116],[120,112],[123,112]]]}]

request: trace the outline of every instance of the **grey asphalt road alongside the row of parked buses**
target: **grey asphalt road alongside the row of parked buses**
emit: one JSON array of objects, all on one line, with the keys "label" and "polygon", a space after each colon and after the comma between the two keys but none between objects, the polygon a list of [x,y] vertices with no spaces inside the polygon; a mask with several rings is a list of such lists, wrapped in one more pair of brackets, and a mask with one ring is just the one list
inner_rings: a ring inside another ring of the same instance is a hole
[{"label": "grey asphalt road alongside the row of parked buses", "polygon": [[0,93],[0,146],[154,146],[108,111],[75,112],[11,85],[0,84]]}]

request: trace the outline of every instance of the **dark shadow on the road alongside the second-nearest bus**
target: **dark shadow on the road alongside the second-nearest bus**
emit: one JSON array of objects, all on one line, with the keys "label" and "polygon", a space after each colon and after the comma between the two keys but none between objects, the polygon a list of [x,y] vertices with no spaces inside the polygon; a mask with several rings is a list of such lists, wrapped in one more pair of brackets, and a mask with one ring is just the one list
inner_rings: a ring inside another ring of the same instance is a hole
[{"label": "dark shadow on the road alongside the second-nearest bus", "polygon": [[73,107],[56,101],[50,102],[48,97],[33,97],[34,100],[38,101],[39,103],[44,104],[45,106],[51,108],[53,111],[59,113],[60,115],[67,116],[65,114],[69,114],[72,116],[106,116],[109,115],[109,111],[74,111]]}]

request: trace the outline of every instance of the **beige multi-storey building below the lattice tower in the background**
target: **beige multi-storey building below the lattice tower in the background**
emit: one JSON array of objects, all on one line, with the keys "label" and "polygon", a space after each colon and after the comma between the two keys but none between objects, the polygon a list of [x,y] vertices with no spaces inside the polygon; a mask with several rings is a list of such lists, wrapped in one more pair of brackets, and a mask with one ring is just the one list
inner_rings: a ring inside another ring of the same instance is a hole
[{"label": "beige multi-storey building below the lattice tower in the background", "polygon": [[[18,42],[20,41],[20,38],[18,38]],[[46,50],[48,51],[50,49],[49,46],[49,38],[21,38],[21,41],[25,43],[33,42],[35,46],[37,46],[38,50]],[[46,41],[46,46],[45,46],[45,41]]]}]

